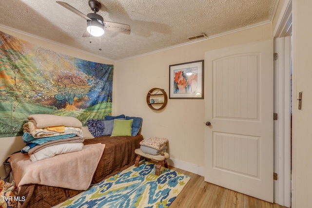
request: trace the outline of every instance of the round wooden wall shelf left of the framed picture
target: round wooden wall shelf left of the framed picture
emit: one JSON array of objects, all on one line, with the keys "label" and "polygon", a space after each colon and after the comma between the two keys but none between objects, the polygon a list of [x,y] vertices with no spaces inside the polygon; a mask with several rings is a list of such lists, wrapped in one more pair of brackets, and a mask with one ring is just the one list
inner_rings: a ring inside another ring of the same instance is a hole
[{"label": "round wooden wall shelf left of the framed picture", "polygon": [[[151,99],[153,99],[153,97],[156,97],[156,98],[161,97],[162,102],[152,103]],[[151,90],[148,91],[146,95],[146,103],[148,107],[152,110],[157,111],[157,110],[163,109],[167,105],[167,101],[168,101],[168,96],[164,89],[152,88]]]}]

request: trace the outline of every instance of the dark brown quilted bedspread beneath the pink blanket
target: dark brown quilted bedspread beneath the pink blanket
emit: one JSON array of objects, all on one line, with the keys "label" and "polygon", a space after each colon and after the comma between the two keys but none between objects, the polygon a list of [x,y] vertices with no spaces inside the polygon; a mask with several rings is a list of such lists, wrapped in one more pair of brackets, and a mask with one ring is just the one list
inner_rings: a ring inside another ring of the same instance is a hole
[{"label": "dark brown quilted bedspread beneath the pink blanket", "polygon": [[[93,175],[92,184],[96,184],[121,170],[125,170],[135,164],[135,149],[140,148],[141,134],[137,136],[100,136],[86,139],[85,145],[102,143],[105,150],[98,168]],[[27,184],[21,186],[19,196],[25,197],[24,202],[19,203],[19,208],[51,208],[66,199],[77,195],[79,190],[49,187],[39,184]]]}]

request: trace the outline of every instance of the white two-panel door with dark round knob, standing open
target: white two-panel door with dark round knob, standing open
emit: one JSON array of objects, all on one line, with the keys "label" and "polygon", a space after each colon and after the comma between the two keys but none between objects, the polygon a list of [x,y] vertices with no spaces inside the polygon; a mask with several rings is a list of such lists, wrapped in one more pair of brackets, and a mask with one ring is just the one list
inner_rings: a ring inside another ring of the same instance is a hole
[{"label": "white two-panel door with dark round knob, standing open", "polygon": [[273,39],[205,53],[205,123],[205,181],[273,202]]}]

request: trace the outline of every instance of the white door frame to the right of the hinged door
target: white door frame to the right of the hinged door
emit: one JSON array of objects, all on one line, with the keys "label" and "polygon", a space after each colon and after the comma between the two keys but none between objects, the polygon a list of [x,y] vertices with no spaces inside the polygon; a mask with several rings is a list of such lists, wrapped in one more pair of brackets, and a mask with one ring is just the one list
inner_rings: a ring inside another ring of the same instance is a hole
[{"label": "white door frame to the right of the hinged door", "polygon": [[[274,112],[278,119],[274,122],[274,172],[278,180],[274,182],[274,202],[291,207],[292,196],[292,170],[291,170],[291,116],[290,116],[290,68],[285,64],[291,53],[290,39],[292,31],[292,0],[284,3],[284,12],[274,30],[274,53],[278,59],[274,61]],[[292,79],[292,88],[295,87]],[[293,90],[293,89],[292,89]],[[295,91],[293,91],[295,92]]]}]

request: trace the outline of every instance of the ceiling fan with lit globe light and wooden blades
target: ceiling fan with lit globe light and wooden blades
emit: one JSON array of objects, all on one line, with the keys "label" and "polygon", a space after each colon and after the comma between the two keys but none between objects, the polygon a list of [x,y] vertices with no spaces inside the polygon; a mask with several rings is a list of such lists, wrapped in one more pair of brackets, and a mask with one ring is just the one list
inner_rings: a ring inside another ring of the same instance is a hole
[{"label": "ceiling fan with lit globe light and wooden blades", "polygon": [[97,14],[97,12],[102,8],[102,5],[97,0],[89,0],[89,6],[93,13],[89,13],[84,15],[71,5],[63,1],[56,1],[61,6],[65,7],[66,9],[74,12],[75,14],[79,15],[80,17],[87,20],[87,31],[82,35],[82,37],[90,37],[90,36],[102,36],[104,34],[104,28],[107,30],[113,30],[116,32],[130,34],[130,25],[122,24],[117,22],[111,21],[104,21],[104,19]]}]

